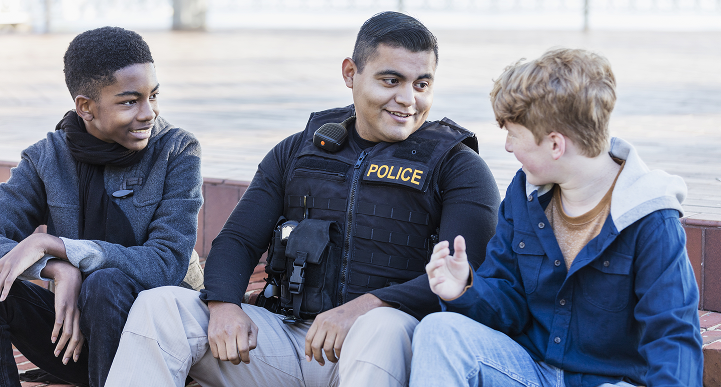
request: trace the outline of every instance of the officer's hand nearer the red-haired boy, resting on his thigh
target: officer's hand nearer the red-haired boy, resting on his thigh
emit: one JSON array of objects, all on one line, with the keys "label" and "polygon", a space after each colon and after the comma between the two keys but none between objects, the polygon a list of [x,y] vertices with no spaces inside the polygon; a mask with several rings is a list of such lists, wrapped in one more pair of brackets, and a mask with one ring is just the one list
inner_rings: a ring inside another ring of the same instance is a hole
[{"label": "officer's hand nearer the red-haired boy, resting on his thigh", "polygon": [[319,314],[306,334],[306,360],[311,361],[315,358],[318,364],[325,365],[323,359],[325,352],[326,358],[336,363],[345,336],[348,335],[355,320],[367,311],[380,306],[390,305],[373,294],[366,293],[353,301]]}]

